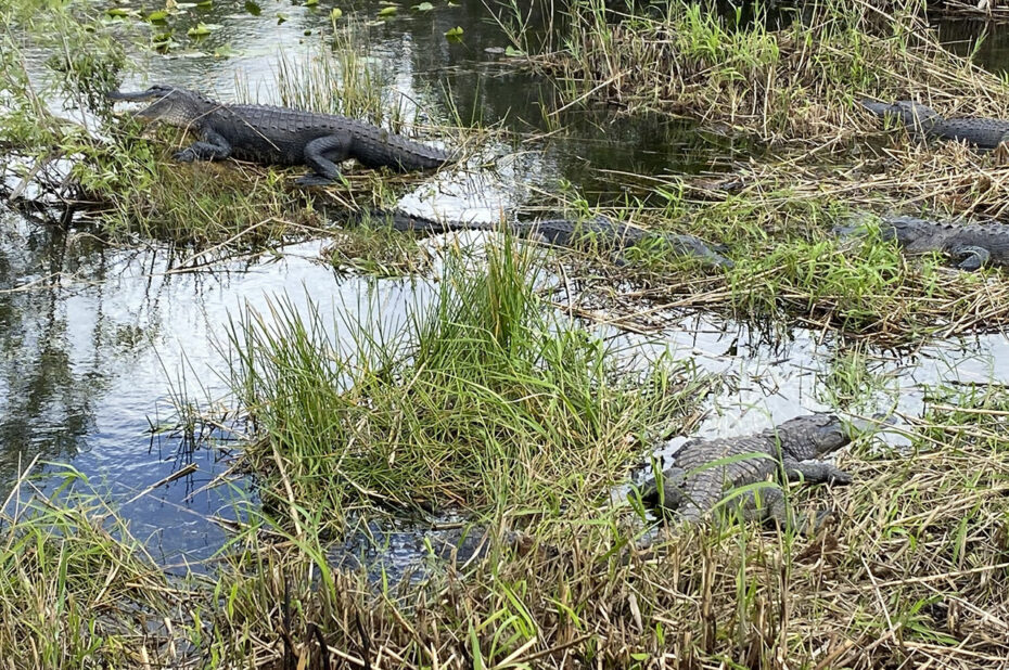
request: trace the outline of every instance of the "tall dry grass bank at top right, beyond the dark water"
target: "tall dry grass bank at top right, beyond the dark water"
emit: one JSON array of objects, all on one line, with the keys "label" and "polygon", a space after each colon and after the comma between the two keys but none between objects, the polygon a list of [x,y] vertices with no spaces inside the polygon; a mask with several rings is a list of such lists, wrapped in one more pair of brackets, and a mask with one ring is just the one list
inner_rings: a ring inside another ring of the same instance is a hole
[{"label": "tall dry grass bank at top right, beyond the dark water", "polygon": [[[1006,83],[943,49],[916,0],[803,5],[776,29],[737,25],[704,2],[675,2],[660,17],[614,23],[602,2],[572,3],[563,48],[532,59],[566,81],[569,105],[603,100],[628,113],[657,111],[729,126],[768,142],[850,139],[879,125],[864,96],[919,99],[944,114],[1006,116]],[[788,10],[783,10],[782,14]]]}]

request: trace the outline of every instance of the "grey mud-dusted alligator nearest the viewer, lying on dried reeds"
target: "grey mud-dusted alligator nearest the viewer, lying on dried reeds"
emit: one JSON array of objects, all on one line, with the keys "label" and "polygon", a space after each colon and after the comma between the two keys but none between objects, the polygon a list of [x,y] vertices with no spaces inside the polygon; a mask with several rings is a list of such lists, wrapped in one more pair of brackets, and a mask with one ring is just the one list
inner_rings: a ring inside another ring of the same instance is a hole
[{"label": "grey mud-dusted alligator nearest the viewer, lying on dried reeds", "polygon": [[[712,440],[694,439],[676,453],[674,467],[666,469],[660,487],[646,484],[641,500],[698,523],[705,518],[731,489],[787,478],[831,485],[851,484],[851,476],[820,459],[851,442],[854,424],[833,414],[806,414],[757,435]],[[804,462],[806,461],[806,462]],[[748,488],[739,495],[746,519],[770,520],[804,528],[807,519],[790,515],[784,493],[776,484]],[[818,525],[827,516],[817,514]]]}]

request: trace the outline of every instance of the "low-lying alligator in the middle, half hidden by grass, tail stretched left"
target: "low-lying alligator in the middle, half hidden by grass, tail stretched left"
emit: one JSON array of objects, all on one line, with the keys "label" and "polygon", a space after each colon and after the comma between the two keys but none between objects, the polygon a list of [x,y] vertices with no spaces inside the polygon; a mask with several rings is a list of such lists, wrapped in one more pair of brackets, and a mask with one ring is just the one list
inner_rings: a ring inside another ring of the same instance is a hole
[{"label": "low-lying alligator in the middle, half hidden by grass, tail stretched left", "polygon": [[678,255],[693,258],[705,267],[729,269],[733,266],[731,260],[719,253],[725,250],[724,247],[708,245],[693,235],[648,231],[603,216],[585,221],[546,219],[508,221],[503,224],[482,221],[439,221],[398,210],[392,212],[375,210],[368,212],[367,218],[373,221],[387,221],[393,229],[404,232],[494,231],[504,226],[518,237],[540,240],[554,246],[577,247],[597,242],[614,253],[613,260],[617,265],[627,263],[623,252],[628,248],[639,244],[656,244],[667,246]]}]

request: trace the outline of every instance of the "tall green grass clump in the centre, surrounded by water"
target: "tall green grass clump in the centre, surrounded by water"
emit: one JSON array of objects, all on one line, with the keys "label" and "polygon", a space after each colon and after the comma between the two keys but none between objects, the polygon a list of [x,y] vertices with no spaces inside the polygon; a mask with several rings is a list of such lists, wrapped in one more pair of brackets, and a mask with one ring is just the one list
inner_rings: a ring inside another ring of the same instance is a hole
[{"label": "tall green grass clump in the centre, surrounded by water", "polygon": [[700,387],[661,362],[617,374],[600,339],[544,314],[533,258],[506,239],[485,271],[449,262],[404,328],[349,321],[349,350],[316,310],[237,322],[234,386],[268,495],[334,520],[375,502],[557,513],[618,481],[636,438]]}]

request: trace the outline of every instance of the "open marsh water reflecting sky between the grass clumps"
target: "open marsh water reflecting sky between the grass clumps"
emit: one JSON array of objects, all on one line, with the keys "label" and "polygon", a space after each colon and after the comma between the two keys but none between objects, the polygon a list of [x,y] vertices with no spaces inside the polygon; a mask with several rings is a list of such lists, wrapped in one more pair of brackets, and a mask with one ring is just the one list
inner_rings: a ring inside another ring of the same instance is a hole
[{"label": "open marsh water reflecting sky between the grass clumps", "polygon": [[[137,72],[124,88],[161,81],[226,101],[247,91],[259,102],[279,102],[279,59],[312,57],[333,5],[265,0],[254,11],[250,4],[219,0],[209,9],[188,8],[175,26],[180,43],[167,53],[136,54]],[[721,172],[759,151],[699,133],[686,121],[628,119],[605,108],[545,120],[557,104],[550,87],[502,66],[508,41],[483,2],[460,0],[426,12],[404,4],[397,15],[378,21],[383,7],[341,3],[343,21],[355,13],[374,20],[365,55],[386,73],[391,96],[442,123],[450,119],[451,100],[459,118],[503,128],[507,133],[494,137],[509,138],[490,141],[482,166],[419,180],[404,194],[406,209],[491,218],[527,204],[537,189],[565,181],[591,201],[610,203],[624,193],[621,175]],[[205,38],[188,38],[187,26],[199,23],[214,28]],[[462,39],[449,41],[444,34],[456,26],[463,28]],[[982,29],[958,25],[947,34],[966,43]],[[983,64],[1009,67],[1006,47],[987,43]],[[33,475],[44,475],[36,482],[43,489],[56,486],[69,466],[120,505],[135,534],[166,564],[209,556],[226,538],[214,518],[240,517],[245,505],[256,504],[255,490],[228,471],[240,436],[218,430],[215,439],[192,443],[177,429],[173,398],[184,396],[213,414],[227,390],[230,320],[246,307],[268,314],[278,299],[304,307],[310,295],[323,313],[366,322],[381,313],[396,322],[432,296],[427,276],[339,274],[320,260],[321,245],[181,272],[168,249],[110,248],[86,229],[62,230],[0,209],[0,495],[10,493],[29,463]],[[706,401],[695,435],[748,433],[831,407],[831,373],[845,351],[836,337],[801,328],[770,337],[711,313],[656,317],[664,325],[647,335],[588,322],[585,327],[615,349],[670,348],[723,375],[726,384]],[[348,327],[346,319],[332,323],[334,338],[348,336],[341,330]],[[918,415],[929,385],[1009,383],[1006,360],[1009,339],[1001,334],[922,343],[914,351],[869,349],[868,365],[885,383],[861,409],[895,405]],[[662,453],[684,439],[663,446]],[[154,487],[183,468],[184,476]],[[208,487],[219,477],[225,484]],[[383,556],[405,565],[422,554],[416,528],[386,533],[394,551]]]}]

